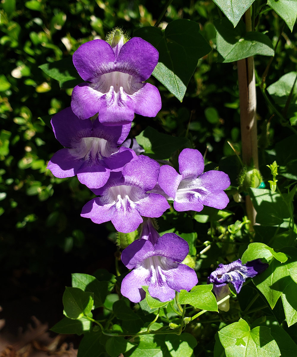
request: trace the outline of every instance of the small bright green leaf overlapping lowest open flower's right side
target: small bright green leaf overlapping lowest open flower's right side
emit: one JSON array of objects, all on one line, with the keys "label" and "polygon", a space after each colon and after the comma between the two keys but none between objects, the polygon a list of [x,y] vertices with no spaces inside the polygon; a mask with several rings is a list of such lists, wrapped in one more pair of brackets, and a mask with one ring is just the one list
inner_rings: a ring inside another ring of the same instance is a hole
[{"label": "small bright green leaf overlapping lowest open flower's right side", "polygon": [[190,292],[181,290],[178,296],[179,304],[190,304],[201,310],[218,311],[217,302],[211,292],[212,285],[197,285]]}]

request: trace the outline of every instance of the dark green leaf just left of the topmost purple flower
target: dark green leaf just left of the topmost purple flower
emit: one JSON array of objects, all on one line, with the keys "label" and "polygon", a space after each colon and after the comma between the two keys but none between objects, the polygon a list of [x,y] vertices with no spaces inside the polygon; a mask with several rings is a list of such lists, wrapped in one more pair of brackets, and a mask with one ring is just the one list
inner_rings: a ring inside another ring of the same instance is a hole
[{"label": "dark green leaf just left of the topmost purple flower", "polygon": [[83,82],[72,63],[72,57],[53,63],[45,63],[39,68],[51,78],[59,81],[62,89],[72,88]]}]

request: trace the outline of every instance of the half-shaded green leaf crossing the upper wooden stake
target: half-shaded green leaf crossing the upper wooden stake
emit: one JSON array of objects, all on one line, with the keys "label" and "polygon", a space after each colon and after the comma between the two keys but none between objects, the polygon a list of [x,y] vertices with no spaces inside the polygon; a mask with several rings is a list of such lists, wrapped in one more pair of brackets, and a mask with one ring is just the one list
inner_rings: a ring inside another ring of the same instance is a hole
[{"label": "half-shaded green leaf crossing the upper wooden stake", "polygon": [[217,31],[217,51],[220,54],[218,62],[234,62],[255,55],[274,55],[269,37],[260,32],[246,32],[243,21],[235,29],[226,18],[214,21],[214,25]]}]

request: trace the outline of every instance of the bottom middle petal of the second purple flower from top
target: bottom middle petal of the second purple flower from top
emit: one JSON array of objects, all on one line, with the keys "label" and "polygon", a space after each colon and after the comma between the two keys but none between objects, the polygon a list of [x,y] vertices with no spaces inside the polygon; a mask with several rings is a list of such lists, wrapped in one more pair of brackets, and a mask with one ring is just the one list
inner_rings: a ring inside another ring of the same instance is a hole
[{"label": "bottom middle petal of the second purple flower from top", "polygon": [[106,184],[110,170],[100,162],[85,161],[80,169],[77,170],[77,178],[88,188],[99,188]]}]

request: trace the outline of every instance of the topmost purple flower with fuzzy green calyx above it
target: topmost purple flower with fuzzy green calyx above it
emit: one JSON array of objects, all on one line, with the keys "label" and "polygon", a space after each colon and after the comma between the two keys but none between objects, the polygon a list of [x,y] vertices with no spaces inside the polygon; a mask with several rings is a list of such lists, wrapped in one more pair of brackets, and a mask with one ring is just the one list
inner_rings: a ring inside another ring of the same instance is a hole
[{"label": "topmost purple flower with fuzzy green calyx above it", "polygon": [[80,119],[99,115],[104,125],[130,123],[134,113],[154,117],[161,109],[158,89],[144,83],[158,63],[159,53],[139,37],[124,43],[116,30],[110,41],[93,40],[73,54],[84,81],[72,92],[71,107]]}]

